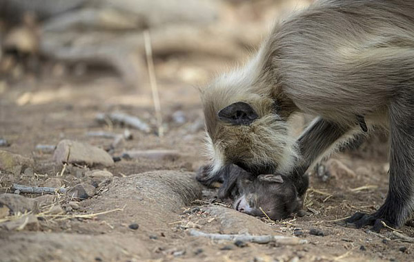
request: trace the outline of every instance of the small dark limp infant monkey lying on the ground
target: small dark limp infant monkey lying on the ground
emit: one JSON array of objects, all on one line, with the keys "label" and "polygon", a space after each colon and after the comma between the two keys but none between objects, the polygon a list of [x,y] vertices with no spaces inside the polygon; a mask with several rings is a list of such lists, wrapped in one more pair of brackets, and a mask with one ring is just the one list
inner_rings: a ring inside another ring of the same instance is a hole
[{"label": "small dark limp infant monkey lying on the ground", "polygon": [[[203,166],[197,172],[197,180],[204,186],[215,182],[223,183],[219,198],[232,200],[233,208],[248,215],[278,220],[285,219],[302,209],[303,195],[308,188],[296,188],[288,177],[282,175],[258,175],[244,171],[230,164],[215,176],[208,176],[210,166]],[[304,177],[307,181],[307,177]]]}]

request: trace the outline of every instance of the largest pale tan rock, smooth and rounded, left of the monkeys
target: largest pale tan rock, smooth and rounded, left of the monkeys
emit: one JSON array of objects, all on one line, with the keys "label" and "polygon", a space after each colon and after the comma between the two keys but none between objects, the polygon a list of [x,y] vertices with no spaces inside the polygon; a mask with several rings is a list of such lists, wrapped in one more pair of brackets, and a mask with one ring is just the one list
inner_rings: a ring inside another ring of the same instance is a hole
[{"label": "largest pale tan rock, smooth and rounded, left of the monkeys", "polygon": [[87,164],[88,166],[113,166],[114,164],[112,157],[103,149],[72,140],[59,142],[53,159],[59,164]]}]

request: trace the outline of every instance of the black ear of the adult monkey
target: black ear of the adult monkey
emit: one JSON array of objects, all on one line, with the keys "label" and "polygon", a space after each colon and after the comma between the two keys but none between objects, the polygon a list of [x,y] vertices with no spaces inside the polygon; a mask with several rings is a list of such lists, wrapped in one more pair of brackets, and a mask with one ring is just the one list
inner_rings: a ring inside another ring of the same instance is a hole
[{"label": "black ear of the adult monkey", "polygon": [[237,125],[248,125],[259,118],[255,109],[246,102],[235,102],[224,107],[219,111],[218,116],[219,120]]}]

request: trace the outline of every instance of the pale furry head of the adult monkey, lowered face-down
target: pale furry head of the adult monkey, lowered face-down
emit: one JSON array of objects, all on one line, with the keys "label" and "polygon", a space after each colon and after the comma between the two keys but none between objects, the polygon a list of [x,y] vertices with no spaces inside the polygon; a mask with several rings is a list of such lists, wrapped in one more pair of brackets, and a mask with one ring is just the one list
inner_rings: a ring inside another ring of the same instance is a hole
[{"label": "pale furry head of the adult monkey, lowered face-down", "polygon": [[286,173],[297,153],[286,120],[271,94],[257,94],[248,80],[224,76],[201,91],[211,173],[237,164],[255,175]]}]

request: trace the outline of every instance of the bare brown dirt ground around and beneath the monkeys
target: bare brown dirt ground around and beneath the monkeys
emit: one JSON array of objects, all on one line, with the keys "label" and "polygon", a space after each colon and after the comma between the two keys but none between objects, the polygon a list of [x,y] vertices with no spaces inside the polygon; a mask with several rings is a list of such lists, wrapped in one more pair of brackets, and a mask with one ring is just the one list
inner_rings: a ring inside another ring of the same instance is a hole
[{"label": "bare brown dirt ground around and beneath the monkeys", "polygon": [[[0,171],[0,193],[12,192],[13,183],[43,186],[53,177],[65,188],[79,183],[96,186],[95,195],[78,201],[75,207],[69,204],[74,199],[66,194],[44,202],[34,213],[34,227],[2,226],[10,221],[23,224],[28,214],[0,217],[0,261],[413,261],[414,245],[395,237],[392,230],[377,234],[370,228],[342,223],[356,211],[374,212],[384,201],[388,188],[384,139],[373,138],[355,152],[333,156],[336,162],[331,160],[328,177],[312,173],[304,217],[295,215],[283,221],[251,217],[221,204],[215,199],[215,190],[195,181],[194,172],[206,163],[204,116],[197,87],[234,62],[219,56],[180,54],[155,59],[162,138],[157,135],[146,78],[137,88],[130,88],[108,68],[78,74],[72,65],[44,61],[46,69],[41,72],[0,80],[0,139],[9,144],[0,150],[34,160],[32,169]],[[66,74],[51,73],[61,67]],[[88,135],[92,131],[124,133],[127,127],[95,119],[97,113],[115,111],[136,116],[152,131],[128,128],[132,139],[112,149],[113,138]],[[296,131],[303,127],[302,120],[297,118]],[[53,160],[53,151],[37,149],[39,144],[55,146],[63,139],[106,149],[112,157],[134,150],[177,153],[121,157],[108,168],[63,167]],[[94,181],[85,175],[93,169],[106,169],[114,177]],[[55,206],[61,212],[52,213]],[[134,223],[137,229],[132,229]],[[324,236],[310,234],[311,229],[322,230]],[[233,241],[193,237],[190,230],[275,234],[306,239],[306,243],[238,246]],[[411,226],[400,230],[414,237]]]}]

